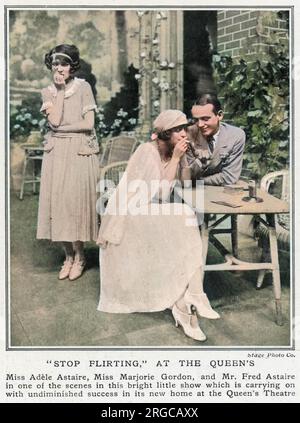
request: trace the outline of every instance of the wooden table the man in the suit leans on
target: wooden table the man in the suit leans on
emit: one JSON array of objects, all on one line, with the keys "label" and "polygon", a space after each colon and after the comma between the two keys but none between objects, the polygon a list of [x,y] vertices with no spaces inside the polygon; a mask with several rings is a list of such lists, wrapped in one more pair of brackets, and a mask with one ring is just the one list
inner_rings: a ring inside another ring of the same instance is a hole
[{"label": "wooden table the man in the suit leans on", "polygon": [[[239,183],[240,185],[240,183]],[[247,184],[243,184],[244,187]],[[193,207],[195,207],[195,194],[193,190]],[[282,310],[281,310],[281,284],[278,261],[278,248],[275,227],[275,214],[289,213],[289,204],[282,201],[267,192],[258,189],[257,197],[262,198],[261,203],[246,202],[242,198],[248,196],[248,191],[241,194],[227,194],[224,192],[224,187],[220,186],[204,186],[204,218],[201,223],[201,236],[203,243],[203,263],[204,271],[245,271],[245,270],[269,270],[272,272],[273,291],[275,297],[276,307],[276,323],[282,325]],[[241,207],[229,207],[226,205],[216,204],[212,201],[233,201],[236,204],[242,204]],[[201,210],[200,210],[201,212]],[[211,214],[222,215],[218,216],[217,220],[210,223],[209,216]],[[269,232],[270,241],[270,262],[264,263],[250,263],[239,260],[238,257],[238,231],[237,231],[237,216],[238,215],[255,215],[259,222],[266,226]],[[265,216],[265,217],[264,217]],[[221,229],[218,226],[227,218],[231,220],[230,229]],[[215,237],[216,234],[229,233],[232,241],[232,252],[229,252],[225,246]],[[225,258],[225,263],[220,264],[206,264],[208,241],[221,252]]]}]

